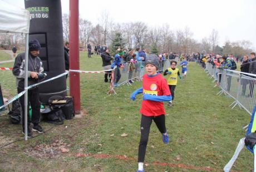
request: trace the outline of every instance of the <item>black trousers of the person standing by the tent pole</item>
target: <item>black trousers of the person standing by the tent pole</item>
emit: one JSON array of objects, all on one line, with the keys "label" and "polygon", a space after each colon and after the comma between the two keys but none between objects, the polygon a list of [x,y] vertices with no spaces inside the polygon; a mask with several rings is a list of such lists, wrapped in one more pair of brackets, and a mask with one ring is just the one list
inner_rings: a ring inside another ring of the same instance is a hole
[{"label": "black trousers of the person standing by the tent pole", "polygon": [[[24,89],[18,88],[18,93],[23,92]],[[22,128],[24,129],[25,124],[25,95],[23,94],[22,97],[19,98],[19,102],[21,103],[22,108]],[[40,123],[40,100],[39,100],[39,90],[38,87],[28,90],[28,114],[29,114],[29,104],[31,105],[32,109],[32,120],[29,121],[28,118],[28,125],[33,123],[34,125],[38,125]],[[29,115],[28,115],[29,117]]]}]

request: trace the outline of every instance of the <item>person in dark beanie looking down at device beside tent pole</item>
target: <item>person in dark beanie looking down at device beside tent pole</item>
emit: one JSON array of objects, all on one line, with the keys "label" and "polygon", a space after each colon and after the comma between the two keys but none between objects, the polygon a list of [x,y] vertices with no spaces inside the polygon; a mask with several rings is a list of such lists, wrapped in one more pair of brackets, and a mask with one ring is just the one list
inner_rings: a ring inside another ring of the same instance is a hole
[{"label": "person in dark beanie looking down at device beside tent pole", "polygon": [[[33,85],[38,83],[40,79],[43,79],[46,74],[43,72],[42,60],[38,57],[40,53],[41,45],[37,39],[32,39],[29,41],[29,53],[28,53],[28,85]],[[13,69],[13,75],[16,77],[16,86],[18,93],[23,92],[24,90],[24,78],[25,78],[25,53],[20,53],[15,59]],[[24,95],[19,98],[22,108],[22,133],[24,134]],[[32,120],[28,120],[28,138],[33,136],[31,129],[29,128],[30,123],[33,123],[33,131],[38,133],[43,133],[40,123],[40,100],[39,100],[39,89],[38,87],[33,87],[28,90],[28,104],[32,108]],[[29,112],[29,111],[28,111]]]}]

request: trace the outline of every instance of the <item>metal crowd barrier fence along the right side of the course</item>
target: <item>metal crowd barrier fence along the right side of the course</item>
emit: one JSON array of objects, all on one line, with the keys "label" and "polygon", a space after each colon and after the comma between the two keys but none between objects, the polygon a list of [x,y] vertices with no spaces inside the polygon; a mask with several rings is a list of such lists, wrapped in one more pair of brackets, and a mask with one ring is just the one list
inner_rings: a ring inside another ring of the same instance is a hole
[{"label": "metal crowd barrier fence along the right side of the course", "polygon": [[214,78],[221,91],[217,94],[224,93],[234,99],[234,102],[229,105],[232,109],[239,105],[252,115],[253,108],[256,104],[256,75],[235,70],[218,69],[213,64],[205,64],[205,72]]}]

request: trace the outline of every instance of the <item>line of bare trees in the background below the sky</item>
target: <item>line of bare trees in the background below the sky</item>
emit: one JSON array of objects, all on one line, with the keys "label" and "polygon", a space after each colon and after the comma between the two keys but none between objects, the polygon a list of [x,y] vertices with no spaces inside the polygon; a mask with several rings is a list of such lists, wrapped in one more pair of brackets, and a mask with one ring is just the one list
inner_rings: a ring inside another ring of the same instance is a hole
[{"label": "line of bare trees in the background below the sky", "polygon": [[[63,39],[68,41],[69,37],[69,17],[63,14]],[[149,52],[163,53],[175,52],[185,53],[219,53],[234,55],[249,54],[253,50],[250,48],[250,41],[226,41],[223,47],[218,45],[219,34],[213,29],[208,37],[201,41],[193,39],[193,32],[189,27],[171,30],[169,24],[161,27],[149,27],[144,22],[114,23],[107,12],[103,12],[99,23],[93,26],[92,22],[80,18],[80,46],[87,47],[88,43],[93,45],[107,45],[111,53],[115,53],[118,47],[121,48],[146,48]],[[24,34],[0,33],[0,48],[11,49],[16,45],[23,49],[25,44]],[[93,48],[92,48],[93,49]]]}]

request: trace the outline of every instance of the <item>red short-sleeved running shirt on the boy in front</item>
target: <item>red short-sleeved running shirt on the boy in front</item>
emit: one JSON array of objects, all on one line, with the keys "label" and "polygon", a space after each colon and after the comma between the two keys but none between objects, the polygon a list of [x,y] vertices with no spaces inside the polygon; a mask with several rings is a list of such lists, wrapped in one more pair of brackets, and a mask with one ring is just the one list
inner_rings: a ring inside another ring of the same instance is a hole
[{"label": "red short-sleeved running shirt on the boy in front", "polygon": [[[171,95],[167,81],[161,74],[157,74],[154,77],[144,74],[142,78],[143,94]],[[142,100],[140,113],[147,117],[163,115],[165,114],[164,103]]]}]

